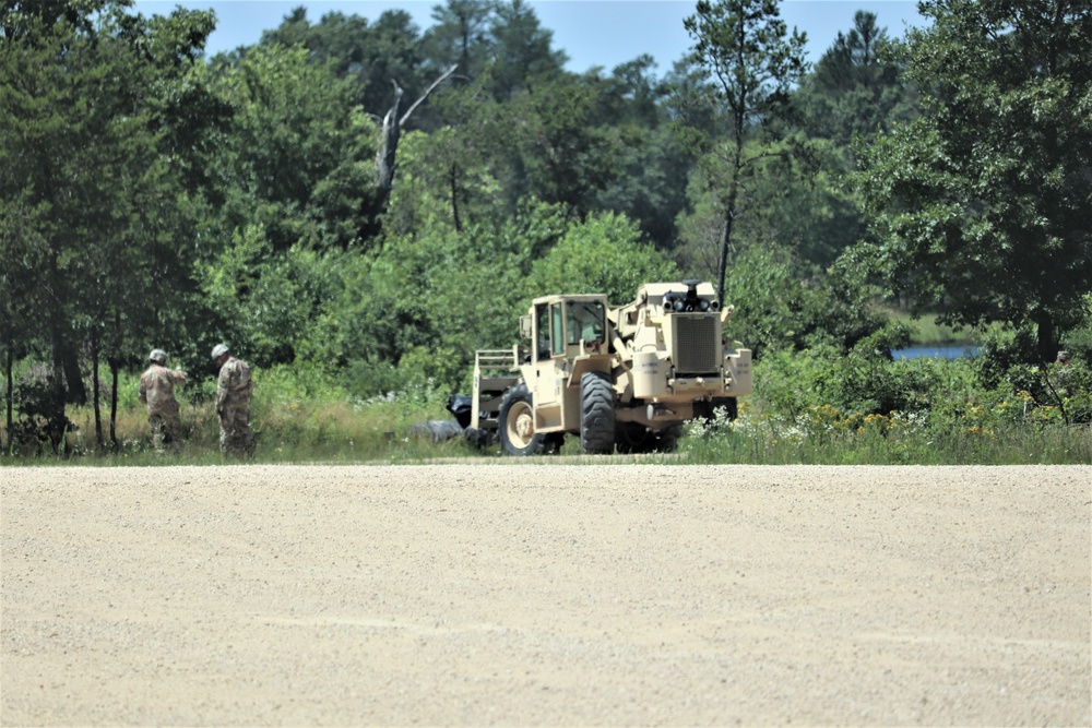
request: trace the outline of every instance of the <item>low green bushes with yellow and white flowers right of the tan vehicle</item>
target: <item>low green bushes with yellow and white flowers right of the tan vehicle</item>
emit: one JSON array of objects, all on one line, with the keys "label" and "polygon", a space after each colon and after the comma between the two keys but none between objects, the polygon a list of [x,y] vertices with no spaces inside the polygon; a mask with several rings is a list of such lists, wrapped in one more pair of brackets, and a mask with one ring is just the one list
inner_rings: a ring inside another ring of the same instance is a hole
[{"label": "low green bushes with yellow and white flowers right of the tan vehicle", "polygon": [[1013,366],[987,389],[973,359],[890,361],[880,350],[768,353],[739,418],[688,423],[682,453],[698,463],[1092,462],[1082,362]]}]

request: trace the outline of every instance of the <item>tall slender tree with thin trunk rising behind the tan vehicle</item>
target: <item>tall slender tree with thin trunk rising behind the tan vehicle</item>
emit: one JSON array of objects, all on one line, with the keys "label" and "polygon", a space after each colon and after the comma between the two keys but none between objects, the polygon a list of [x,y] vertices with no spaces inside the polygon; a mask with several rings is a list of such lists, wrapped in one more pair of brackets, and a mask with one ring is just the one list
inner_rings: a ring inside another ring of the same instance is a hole
[{"label": "tall slender tree with thin trunk rising behind the tan vehicle", "polygon": [[723,232],[716,268],[716,295],[724,297],[724,278],[733,228],[740,214],[746,176],[770,154],[748,153],[756,127],[784,107],[788,89],[807,70],[807,37],[794,28],[788,37],[778,0],[699,0],[686,29],[695,40],[692,60],[712,76],[710,93],[728,109],[728,143],[716,155],[716,184],[723,211]]}]

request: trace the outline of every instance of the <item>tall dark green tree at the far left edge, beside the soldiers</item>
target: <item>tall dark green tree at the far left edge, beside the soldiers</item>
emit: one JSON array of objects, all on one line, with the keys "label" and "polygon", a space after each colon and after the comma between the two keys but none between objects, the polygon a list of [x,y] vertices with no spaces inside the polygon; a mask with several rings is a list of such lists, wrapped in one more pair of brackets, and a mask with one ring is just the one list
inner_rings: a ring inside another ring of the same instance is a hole
[{"label": "tall dark green tree at the far left edge, beside the soldiers", "polygon": [[[51,351],[55,446],[66,395],[86,401],[85,345],[97,371],[106,322],[129,319],[131,331],[154,311],[150,302],[188,277],[178,265],[182,246],[163,244],[164,228],[178,196],[174,180],[193,156],[177,154],[174,134],[200,126],[178,102],[213,16],[176,11],[146,22],[127,8],[10,2],[0,16],[0,207],[16,216],[2,241],[22,250],[10,260],[34,290],[21,324]],[[121,345],[110,344],[107,356],[118,361]]]}]

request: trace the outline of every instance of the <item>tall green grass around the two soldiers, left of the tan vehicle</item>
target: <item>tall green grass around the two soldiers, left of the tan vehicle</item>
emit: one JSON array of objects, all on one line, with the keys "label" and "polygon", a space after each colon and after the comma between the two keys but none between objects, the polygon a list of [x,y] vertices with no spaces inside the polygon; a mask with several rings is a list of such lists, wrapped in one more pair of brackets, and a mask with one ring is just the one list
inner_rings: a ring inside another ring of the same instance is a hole
[{"label": "tall green grass around the two soldiers, left of the tan vehicle", "polygon": [[[45,443],[14,443],[0,462],[13,464],[179,465],[237,462],[219,453],[215,381],[192,382],[176,390],[183,449],[157,453],[152,447],[147,411],[136,399],[136,375],[118,386],[119,406],[110,438],[109,411],[100,407],[100,438],[92,406],[67,410],[73,428],[61,452]],[[411,437],[417,421],[449,419],[447,394],[430,386],[360,398],[335,378],[316,370],[287,367],[254,372],[250,423],[258,447],[254,462],[404,462],[444,453],[465,455],[461,441],[431,443]]]}]

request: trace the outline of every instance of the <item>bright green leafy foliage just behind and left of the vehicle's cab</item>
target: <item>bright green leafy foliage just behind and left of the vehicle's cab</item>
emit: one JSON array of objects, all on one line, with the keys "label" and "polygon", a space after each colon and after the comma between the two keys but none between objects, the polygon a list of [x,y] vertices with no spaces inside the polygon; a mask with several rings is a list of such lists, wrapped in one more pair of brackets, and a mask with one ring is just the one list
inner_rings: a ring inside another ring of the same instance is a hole
[{"label": "bright green leafy foliage just behind and left of the vehicle's cab", "polygon": [[462,232],[442,217],[345,265],[342,295],[320,317],[327,348],[317,356],[369,372],[351,375],[359,394],[382,392],[376,372],[395,367],[397,385],[432,375],[455,386],[470,377],[475,349],[514,344],[532,265],[567,229],[563,210],[542,203]]}]

